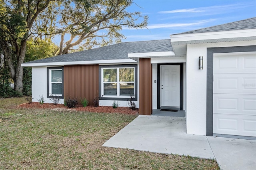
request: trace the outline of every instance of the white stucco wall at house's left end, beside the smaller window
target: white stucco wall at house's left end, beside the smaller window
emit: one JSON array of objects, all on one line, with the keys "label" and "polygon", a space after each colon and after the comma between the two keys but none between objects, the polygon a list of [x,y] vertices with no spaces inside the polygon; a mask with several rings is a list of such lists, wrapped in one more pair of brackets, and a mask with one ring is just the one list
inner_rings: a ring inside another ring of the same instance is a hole
[{"label": "white stucco wall at house's left end, beside the smaller window", "polygon": [[[47,98],[47,68],[46,67],[32,67],[32,101],[38,102],[40,96],[45,99],[44,103],[52,103]],[[60,104],[63,104],[63,99],[60,99]]]}]

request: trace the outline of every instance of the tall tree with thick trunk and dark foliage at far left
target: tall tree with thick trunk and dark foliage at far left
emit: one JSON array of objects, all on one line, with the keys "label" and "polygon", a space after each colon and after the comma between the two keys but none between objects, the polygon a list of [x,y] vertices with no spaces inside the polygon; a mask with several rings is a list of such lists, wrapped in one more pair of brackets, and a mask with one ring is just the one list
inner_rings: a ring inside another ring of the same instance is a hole
[{"label": "tall tree with thick trunk and dark foliage at far left", "polygon": [[50,0],[0,0],[0,45],[8,62],[14,89],[22,93],[23,68],[28,35]]}]

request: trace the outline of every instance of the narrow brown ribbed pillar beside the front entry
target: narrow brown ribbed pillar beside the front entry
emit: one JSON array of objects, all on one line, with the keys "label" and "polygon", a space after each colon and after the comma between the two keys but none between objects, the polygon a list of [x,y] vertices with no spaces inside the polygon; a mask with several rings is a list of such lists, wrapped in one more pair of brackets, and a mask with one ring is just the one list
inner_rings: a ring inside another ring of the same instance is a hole
[{"label": "narrow brown ribbed pillar beside the front entry", "polygon": [[152,114],[152,65],[150,58],[140,59],[140,115]]}]

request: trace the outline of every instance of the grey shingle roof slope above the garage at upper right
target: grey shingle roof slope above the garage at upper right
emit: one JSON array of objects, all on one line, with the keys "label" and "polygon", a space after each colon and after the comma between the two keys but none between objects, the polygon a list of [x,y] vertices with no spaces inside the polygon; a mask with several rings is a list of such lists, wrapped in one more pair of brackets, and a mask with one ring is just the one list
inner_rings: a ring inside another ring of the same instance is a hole
[{"label": "grey shingle roof slope above the garage at upper right", "polygon": [[254,29],[254,28],[256,28],[256,17],[248,18],[246,20],[240,20],[240,21],[236,21],[236,22],[230,22],[227,24],[221,24],[221,25],[217,25],[217,26],[202,28],[202,29],[198,29],[198,30],[182,32],[179,34],[194,34],[194,33],[205,33],[205,32],[247,30],[247,29]]}]

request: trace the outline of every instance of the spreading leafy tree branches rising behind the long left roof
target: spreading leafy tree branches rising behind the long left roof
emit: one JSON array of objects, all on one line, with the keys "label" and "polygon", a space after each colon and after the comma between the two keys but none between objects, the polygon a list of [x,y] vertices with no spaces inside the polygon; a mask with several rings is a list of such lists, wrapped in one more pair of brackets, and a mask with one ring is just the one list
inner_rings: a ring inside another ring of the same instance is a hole
[{"label": "spreading leafy tree branches rising behind the long left roof", "polygon": [[34,34],[60,35],[58,55],[121,42],[123,27],[144,28],[147,16],[127,12],[132,0],[64,0],[50,3],[38,16]]}]

